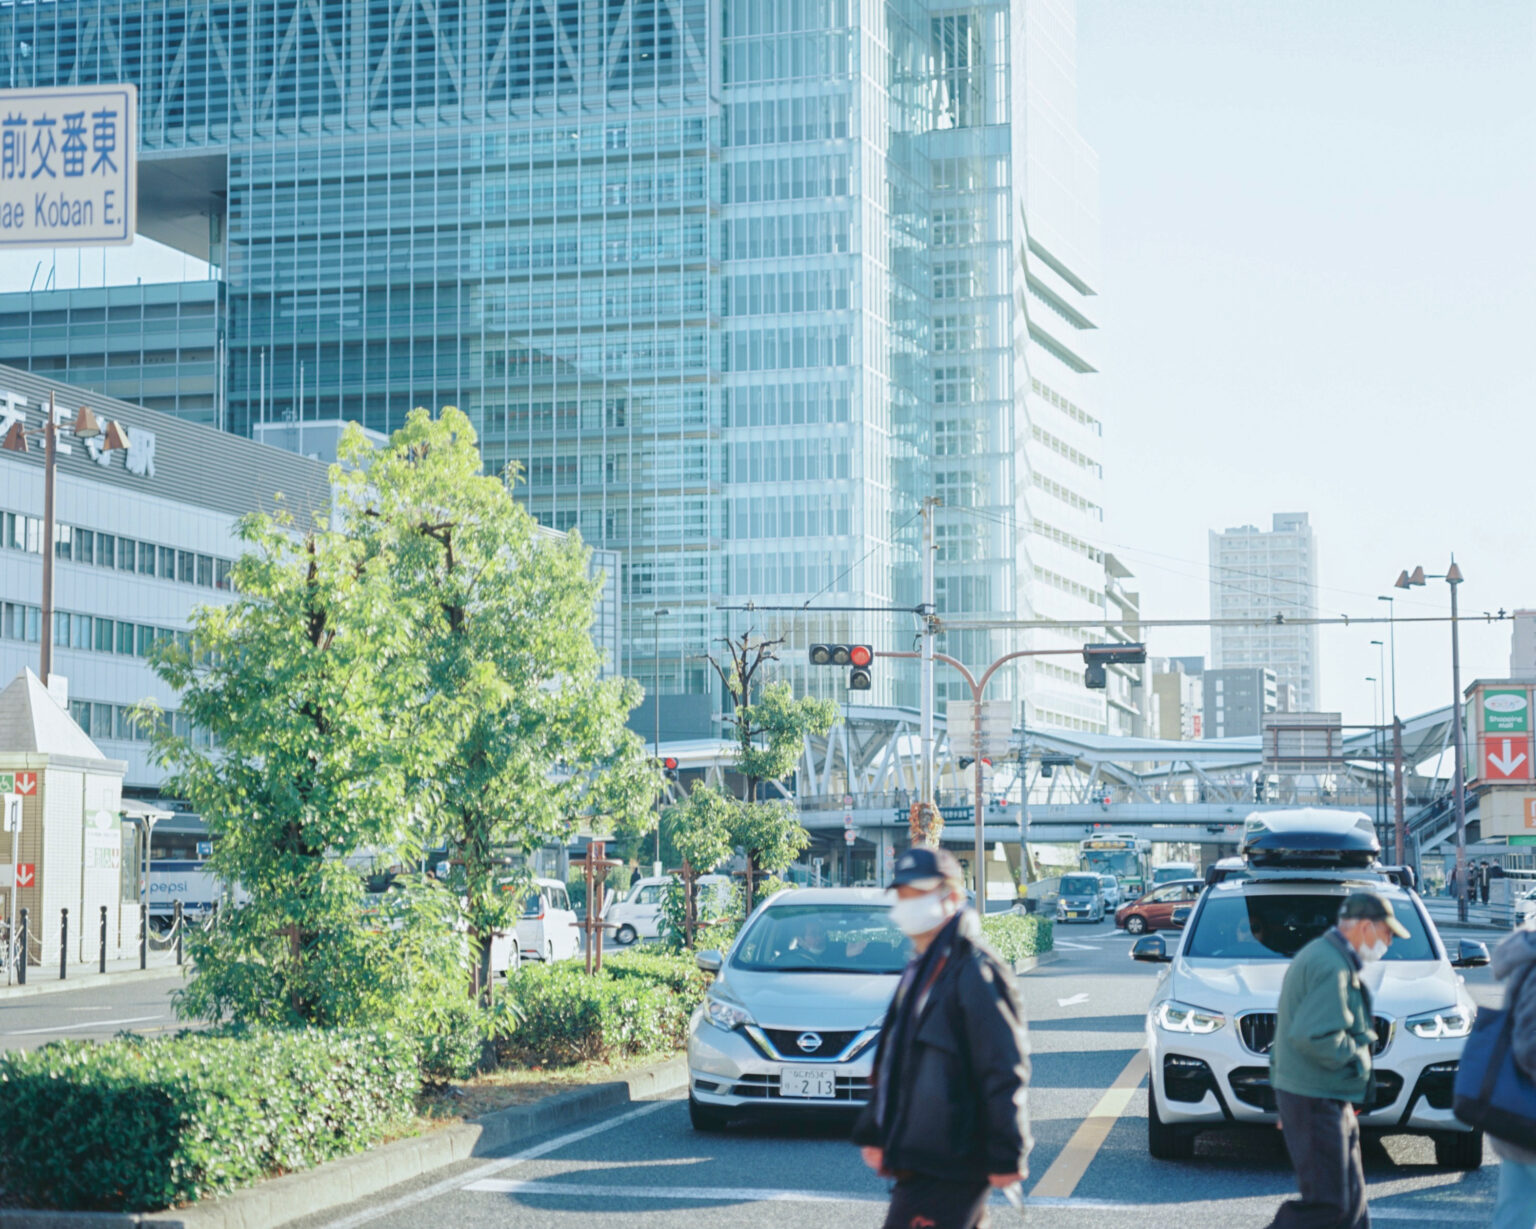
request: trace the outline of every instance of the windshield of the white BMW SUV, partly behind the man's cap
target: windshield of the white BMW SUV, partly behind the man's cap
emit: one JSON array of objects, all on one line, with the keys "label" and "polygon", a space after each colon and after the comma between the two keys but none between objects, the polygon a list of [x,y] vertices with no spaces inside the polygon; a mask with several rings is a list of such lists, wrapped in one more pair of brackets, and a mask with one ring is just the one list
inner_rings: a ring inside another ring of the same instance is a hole
[{"label": "windshield of the white BMW SUV, partly behind the man's cap", "polygon": [[[1344,896],[1217,896],[1184,939],[1184,956],[1223,960],[1289,960],[1338,920]],[[1393,939],[1385,960],[1433,960],[1435,945],[1419,911],[1402,902],[1393,909],[1407,939]]]}]

